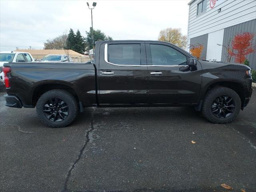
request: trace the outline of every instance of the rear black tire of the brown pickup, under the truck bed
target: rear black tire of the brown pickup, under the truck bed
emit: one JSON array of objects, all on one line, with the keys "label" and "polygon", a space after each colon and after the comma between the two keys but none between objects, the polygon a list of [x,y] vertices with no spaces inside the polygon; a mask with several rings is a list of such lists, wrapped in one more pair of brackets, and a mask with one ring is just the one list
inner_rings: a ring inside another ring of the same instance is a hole
[{"label": "rear black tire of the brown pickup, under the truck bed", "polygon": [[[52,103],[53,101],[53,104],[56,102],[56,106],[58,105],[58,109],[51,107],[53,106],[52,104],[50,104],[51,106],[47,105],[49,101],[51,101],[50,103]],[[58,101],[64,102],[62,104],[63,107],[61,107],[61,104],[58,104]],[[49,108],[47,108],[47,106],[49,106]],[[51,111],[48,112],[48,109]],[[62,112],[61,110],[66,110],[66,112]],[[52,114],[52,112],[54,114]],[[40,120],[49,127],[65,127],[72,123],[72,121],[74,121],[74,119],[76,118],[78,114],[78,102],[76,101],[76,98],[72,94],[70,94],[70,92],[61,89],[50,90],[42,94],[42,96],[38,99],[38,102],[36,104],[36,113]],[[50,114],[50,119],[48,114],[46,113]],[[62,115],[60,113],[62,113]],[[57,121],[54,121],[56,115],[58,116],[58,119]],[[60,116],[62,118],[60,118]]]}]

